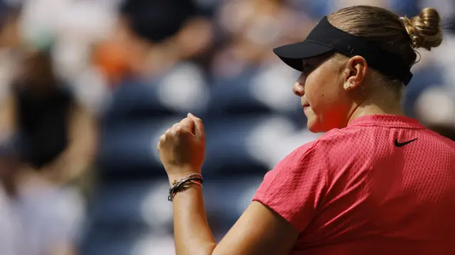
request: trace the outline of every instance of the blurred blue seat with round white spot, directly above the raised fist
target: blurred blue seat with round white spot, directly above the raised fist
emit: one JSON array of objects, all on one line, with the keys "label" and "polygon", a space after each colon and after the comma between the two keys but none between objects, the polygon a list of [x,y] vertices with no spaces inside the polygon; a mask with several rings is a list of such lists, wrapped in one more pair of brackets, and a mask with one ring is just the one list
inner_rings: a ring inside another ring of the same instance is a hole
[{"label": "blurred blue seat with round white spot, directly above the raised fist", "polygon": [[160,118],[188,111],[200,114],[209,96],[200,67],[183,62],[155,79],[125,80],[114,91],[105,119]]}]

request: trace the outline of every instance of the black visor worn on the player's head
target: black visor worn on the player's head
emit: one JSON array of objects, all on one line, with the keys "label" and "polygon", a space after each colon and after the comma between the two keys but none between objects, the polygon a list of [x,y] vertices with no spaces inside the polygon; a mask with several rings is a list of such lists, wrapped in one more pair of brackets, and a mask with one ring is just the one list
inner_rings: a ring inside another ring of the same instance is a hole
[{"label": "black visor worn on the player's head", "polygon": [[289,65],[302,72],[301,60],[318,57],[329,52],[338,52],[347,57],[362,56],[370,67],[377,69],[382,74],[395,77],[409,84],[412,73],[411,67],[394,55],[377,45],[367,42],[350,33],[335,28],[325,16],[303,42],[284,45],[274,49],[274,53]]}]

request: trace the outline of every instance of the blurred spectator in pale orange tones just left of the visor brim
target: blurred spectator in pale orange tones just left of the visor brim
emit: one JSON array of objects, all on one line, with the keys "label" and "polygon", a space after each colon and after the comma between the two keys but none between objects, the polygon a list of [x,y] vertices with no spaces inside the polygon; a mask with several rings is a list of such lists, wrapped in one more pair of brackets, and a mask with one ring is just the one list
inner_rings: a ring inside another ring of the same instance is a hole
[{"label": "blurred spectator in pale orange tones just left of the visor brim", "polygon": [[218,22],[225,42],[214,56],[215,77],[234,77],[276,60],[272,47],[301,40],[314,23],[279,0],[223,1]]}]

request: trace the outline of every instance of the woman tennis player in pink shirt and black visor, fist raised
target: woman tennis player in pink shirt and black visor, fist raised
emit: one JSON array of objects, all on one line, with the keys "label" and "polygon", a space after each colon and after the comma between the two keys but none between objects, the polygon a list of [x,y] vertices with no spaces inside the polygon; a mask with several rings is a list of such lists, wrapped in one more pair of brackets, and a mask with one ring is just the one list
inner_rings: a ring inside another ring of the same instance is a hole
[{"label": "woman tennis player in pink shirt and black visor, fist raised", "polygon": [[200,186],[203,123],[188,114],[169,128],[158,149],[176,253],[455,254],[455,143],[400,106],[414,50],[440,44],[434,8],[408,19],[353,6],[322,18],[304,42],[275,49],[301,71],[293,90],[309,130],[326,133],[265,175],[219,244]]}]

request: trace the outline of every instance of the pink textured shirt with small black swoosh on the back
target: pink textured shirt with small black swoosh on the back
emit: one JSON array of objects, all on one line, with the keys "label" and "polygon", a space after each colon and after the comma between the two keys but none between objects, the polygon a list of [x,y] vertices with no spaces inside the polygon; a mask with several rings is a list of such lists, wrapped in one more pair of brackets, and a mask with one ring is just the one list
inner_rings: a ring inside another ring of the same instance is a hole
[{"label": "pink textured shirt with small black swoosh on the back", "polygon": [[455,142],[360,117],[291,152],[253,200],[299,230],[291,254],[455,254]]}]

